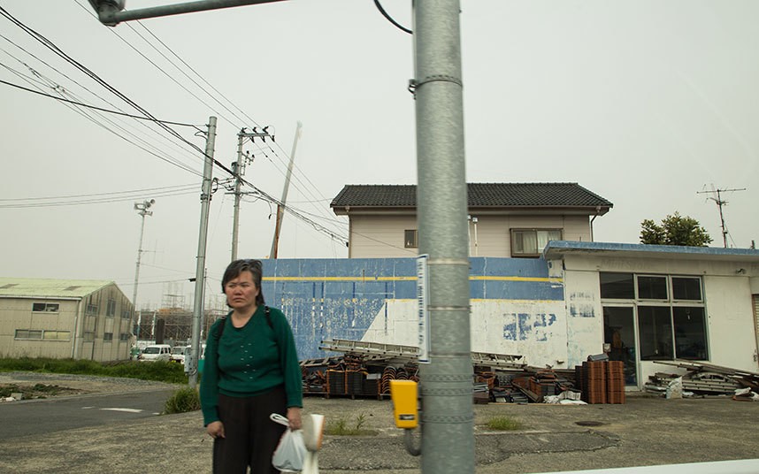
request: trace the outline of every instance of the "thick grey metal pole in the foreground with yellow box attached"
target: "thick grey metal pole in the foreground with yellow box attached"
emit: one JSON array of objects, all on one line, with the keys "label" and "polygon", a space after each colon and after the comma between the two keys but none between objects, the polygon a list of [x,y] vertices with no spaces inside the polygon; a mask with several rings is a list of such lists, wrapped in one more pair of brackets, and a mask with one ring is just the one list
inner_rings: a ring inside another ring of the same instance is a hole
[{"label": "thick grey metal pole in the foreground with yellow box attached", "polygon": [[420,366],[422,472],[474,472],[459,0],[415,0],[417,222],[429,271],[430,363]]}]

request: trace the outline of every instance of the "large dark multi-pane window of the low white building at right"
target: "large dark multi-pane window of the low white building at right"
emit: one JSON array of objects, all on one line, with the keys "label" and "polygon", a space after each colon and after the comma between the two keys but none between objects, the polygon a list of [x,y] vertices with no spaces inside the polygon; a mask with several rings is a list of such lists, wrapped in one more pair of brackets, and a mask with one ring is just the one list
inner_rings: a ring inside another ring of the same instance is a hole
[{"label": "large dark multi-pane window of the low white building at right", "polygon": [[709,360],[700,277],[601,272],[599,279],[602,303],[635,308],[640,360]]}]

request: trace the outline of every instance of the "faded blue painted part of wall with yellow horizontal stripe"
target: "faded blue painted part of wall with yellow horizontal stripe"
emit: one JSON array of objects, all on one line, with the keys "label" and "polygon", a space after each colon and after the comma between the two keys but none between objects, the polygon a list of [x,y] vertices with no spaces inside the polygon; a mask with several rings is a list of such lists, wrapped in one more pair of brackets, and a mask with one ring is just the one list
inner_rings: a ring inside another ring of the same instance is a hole
[{"label": "faded blue painted part of wall with yellow horizontal stripe", "polygon": [[[322,340],[361,340],[387,300],[416,299],[415,258],[264,260],[264,275],[266,302],[288,316],[302,359],[324,357]],[[472,299],[563,300],[543,259],[472,258],[470,275]]]}]

